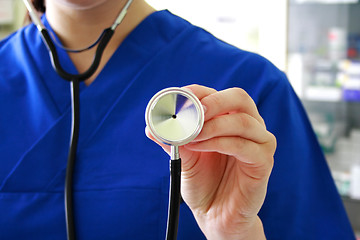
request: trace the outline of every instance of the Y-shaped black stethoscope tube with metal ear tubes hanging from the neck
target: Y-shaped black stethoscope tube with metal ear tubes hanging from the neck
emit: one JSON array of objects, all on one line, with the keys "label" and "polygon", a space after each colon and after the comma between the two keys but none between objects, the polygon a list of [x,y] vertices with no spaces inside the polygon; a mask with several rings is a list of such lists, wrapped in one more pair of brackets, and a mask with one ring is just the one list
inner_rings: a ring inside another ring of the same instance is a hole
[{"label": "Y-shaped black stethoscope tube with metal ear tubes hanging from the neck", "polygon": [[122,19],[125,17],[127,8],[130,6],[132,0],[129,0],[114,24],[104,30],[100,37],[94,59],[91,63],[91,66],[83,73],[80,74],[71,74],[63,69],[60,64],[58,52],[56,46],[51,39],[51,36],[45,26],[42,24],[40,19],[37,17],[34,7],[28,0],[24,0],[24,3],[29,11],[30,17],[32,18],[34,24],[36,25],[40,36],[47,47],[51,59],[53,69],[56,73],[63,79],[70,82],[71,89],[71,109],[72,109],[72,120],[71,120],[71,137],[70,137],[70,147],[67,159],[66,166],[66,175],[65,175],[65,187],[64,187],[64,203],[65,203],[65,220],[66,220],[66,234],[68,240],[76,239],[76,228],[74,220],[74,209],[73,209],[73,177],[74,177],[74,168],[76,163],[76,152],[77,145],[79,140],[80,132],[80,81],[89,79],[95,71],[98,69],[102,54],[105,50],[105,47],[109,43],[111,37],[114,34],[116,26],[118,26]]}]

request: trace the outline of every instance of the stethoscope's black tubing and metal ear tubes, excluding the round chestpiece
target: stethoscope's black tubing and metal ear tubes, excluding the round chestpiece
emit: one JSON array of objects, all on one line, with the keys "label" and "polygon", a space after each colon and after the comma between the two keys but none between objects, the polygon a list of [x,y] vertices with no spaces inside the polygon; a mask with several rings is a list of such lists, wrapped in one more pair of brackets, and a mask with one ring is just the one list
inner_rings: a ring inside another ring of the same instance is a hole
[{"label": "stethoscope's black tubing and metal ear tubes, excluding the round chestpiece", "polygon": [[[71,138],[70,147],[67,159],[66,176],[65,176],[65,187],[64,187],[64,202],[65,202],[65,217],[66,217],[66,231],[67,239],[76,239],[76,228],[74,220],[74,209],[73,209],[73,177],[74,168],[76,163],[76,152],[79,140],[80,132],[80,82],[89,79],[95,71],[98,69],[102,54],[105,47],[109,43],[111,37],[114,34],[116,27],[121,23],[126,15],[127,9],[133,0],[128,0],[123,10],[113,23],[113,25],[105,29],[100,36],[98,46],[94,55],[94,59],[91,66],[80,74],[71,74],[63,69],[61,66],[59,55],[56,50],[56,46],[51,39],[48,30],[44,27],[40,19],[37,17],[33,6],[28,0],[23,0],[29,14],[36,25],[38,31],[41,34],[43,42],[45,43],[53,69],[63,79],[70,82],[71,89],[71,109],[72,109],[72,120],[71,120]],[[96,44],[95,44],[96,45]],[[67,50],[66,48],[63,48]],[[68,51],[68,50],[67,50]],[[74,51],[77,52],[77,51]],[[176,154],[178,156],[178,154]],[[168,206],[168,219],[166,229],[166,240],[176,240],[178,225],[179,225],[179,212],[181,203],[181,159],[180,157],[171,158],[170,160],[170,189],[169,189],[169,206]]]}]

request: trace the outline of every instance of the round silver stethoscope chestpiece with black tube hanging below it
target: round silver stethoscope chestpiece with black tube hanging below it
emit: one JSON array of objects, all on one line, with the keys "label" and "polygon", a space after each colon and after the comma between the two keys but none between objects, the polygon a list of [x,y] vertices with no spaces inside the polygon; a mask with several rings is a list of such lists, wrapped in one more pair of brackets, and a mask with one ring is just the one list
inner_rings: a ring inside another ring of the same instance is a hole
[{"label": "round silver stethoscope chestpiece with black tube hanging below it", "polygon": [[176,239],[181,202],[181,158],[179,146],[191,142],[204,125],[199,99],[183,88],[166,88],[156,93],[145,111],[150,133],[170,145],[170,190],[166,239]]}]

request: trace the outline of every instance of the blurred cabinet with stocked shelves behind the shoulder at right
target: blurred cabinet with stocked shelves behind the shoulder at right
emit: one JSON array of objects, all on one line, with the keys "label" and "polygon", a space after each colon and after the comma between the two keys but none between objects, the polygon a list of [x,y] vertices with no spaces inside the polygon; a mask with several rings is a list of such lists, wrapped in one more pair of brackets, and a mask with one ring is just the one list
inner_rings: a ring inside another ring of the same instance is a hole
[{"label": "blurred cabinet with stocked shelves behind the shoulder at right", "polygon": [[287,73],[360,232],[360,3],[290,0]]}]

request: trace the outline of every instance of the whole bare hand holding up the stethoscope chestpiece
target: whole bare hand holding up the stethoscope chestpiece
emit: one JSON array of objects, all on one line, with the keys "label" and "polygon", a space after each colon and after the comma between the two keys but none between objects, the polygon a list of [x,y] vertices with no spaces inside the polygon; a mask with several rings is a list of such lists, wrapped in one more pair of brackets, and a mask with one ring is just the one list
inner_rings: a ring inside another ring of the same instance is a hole
[{"label": "whole bare hand holding up the stethoscope chestpiece", "polygon": [[275,137],[244,90],[186,88],[206,112],[199,136],[180,147],[184,201],[208,239],[265,239],[257,214],[273,166]]}]

